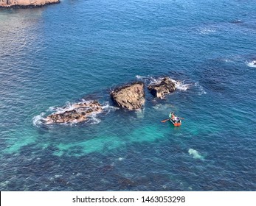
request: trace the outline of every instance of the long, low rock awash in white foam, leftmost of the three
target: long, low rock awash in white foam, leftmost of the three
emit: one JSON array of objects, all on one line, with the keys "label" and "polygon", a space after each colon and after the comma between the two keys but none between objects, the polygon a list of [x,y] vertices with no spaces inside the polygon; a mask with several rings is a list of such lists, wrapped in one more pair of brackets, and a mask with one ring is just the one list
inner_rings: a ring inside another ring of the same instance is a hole
[{"label": "long, low rock awash in white foam, leftmost of the three", "polygon": [[80,123],[88,120],[92,113],[101,113],[102,105],[97,101],[80,102],[63,107],[63,112],[52,113],[45,119],[46,124]]}]

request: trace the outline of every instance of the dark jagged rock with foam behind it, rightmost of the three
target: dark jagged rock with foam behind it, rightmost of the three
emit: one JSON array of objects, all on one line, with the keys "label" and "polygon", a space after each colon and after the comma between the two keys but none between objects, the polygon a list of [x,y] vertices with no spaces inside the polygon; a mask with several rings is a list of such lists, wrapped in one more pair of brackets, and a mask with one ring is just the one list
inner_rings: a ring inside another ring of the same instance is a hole
[{"label": "dark jagged rock with foam behind it, rightmost of the three", "polygon": [[176,87],[172,79],[165,77],[160,82],[148,85],[148,90],[153,96],[163,99],[167,93],[171,93],[176,90]]}]

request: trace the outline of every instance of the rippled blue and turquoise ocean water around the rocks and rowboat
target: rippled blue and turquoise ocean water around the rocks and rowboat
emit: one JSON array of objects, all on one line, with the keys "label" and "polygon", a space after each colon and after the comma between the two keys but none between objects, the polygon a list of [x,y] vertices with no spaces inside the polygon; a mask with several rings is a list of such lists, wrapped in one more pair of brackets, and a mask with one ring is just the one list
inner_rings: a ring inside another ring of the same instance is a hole
[{"label": "rippled blue and turquoise ocean water around the rocks and rowboat", "polygon": [[[0,11],[1,191],[255,191],[255,1],[69,1]],[[181,81],[143,110],[133,81]],[[89,122],[41,124],[81,99]],[[184,118],[173,127],[170,111]]]}]

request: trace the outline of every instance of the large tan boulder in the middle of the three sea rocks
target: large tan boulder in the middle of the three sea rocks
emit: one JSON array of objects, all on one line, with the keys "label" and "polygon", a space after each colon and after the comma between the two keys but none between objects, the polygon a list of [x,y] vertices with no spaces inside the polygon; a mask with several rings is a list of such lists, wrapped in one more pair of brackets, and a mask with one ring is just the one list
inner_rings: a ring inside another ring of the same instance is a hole
[{"label": "large tan boulder in the middle of the three sea rocks", "polygon": [[143,82],[134,82],[124,85],[111,92],[111,98],[118,107],[127,110],[136,110],[145,104],[145,92]]}]

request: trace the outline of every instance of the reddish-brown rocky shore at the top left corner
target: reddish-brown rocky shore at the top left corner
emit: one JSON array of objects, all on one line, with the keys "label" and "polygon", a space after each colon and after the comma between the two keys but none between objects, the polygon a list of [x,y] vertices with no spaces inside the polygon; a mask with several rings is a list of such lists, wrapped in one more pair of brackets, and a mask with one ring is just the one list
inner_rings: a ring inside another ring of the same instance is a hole
[{"label": "reddish-brown rocky shore at the top left corner", "polygon": [[58,3],[60,3],[60,0],[0,0],[0,8],[42,7]]}]

